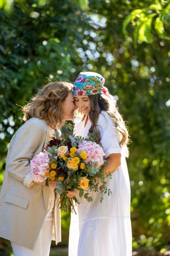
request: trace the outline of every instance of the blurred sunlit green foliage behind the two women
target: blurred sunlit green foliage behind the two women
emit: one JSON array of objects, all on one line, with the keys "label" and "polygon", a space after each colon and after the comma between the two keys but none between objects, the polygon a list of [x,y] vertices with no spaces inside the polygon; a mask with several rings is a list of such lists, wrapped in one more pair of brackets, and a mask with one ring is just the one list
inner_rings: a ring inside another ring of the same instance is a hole
[{"label": "blurred sunlit green foliage behind the two women", "polygon": [[[170,255],[168,1],[0,1],[0,184],[20,106],[48,81],[88,70],[105,77],[130,132],[133,255]],[[62,246],[69,221],[63,212]]]}]

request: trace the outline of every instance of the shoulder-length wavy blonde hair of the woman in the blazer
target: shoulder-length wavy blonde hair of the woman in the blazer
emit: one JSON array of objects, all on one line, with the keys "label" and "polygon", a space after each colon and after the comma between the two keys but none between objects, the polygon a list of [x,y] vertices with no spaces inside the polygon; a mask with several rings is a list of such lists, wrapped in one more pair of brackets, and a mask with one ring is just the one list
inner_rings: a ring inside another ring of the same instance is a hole
[{"label": "shoulder-length wavy blonde hair of the woman in the blazer", "polygon": [[54,128],[64,124],[62,115],[62,102],[72,90],[72,84],[68,82],[51,82],[46,84],[32,97],[31,102],[23,106],[23,120],[31,117],[44,119],[48,125]]}]

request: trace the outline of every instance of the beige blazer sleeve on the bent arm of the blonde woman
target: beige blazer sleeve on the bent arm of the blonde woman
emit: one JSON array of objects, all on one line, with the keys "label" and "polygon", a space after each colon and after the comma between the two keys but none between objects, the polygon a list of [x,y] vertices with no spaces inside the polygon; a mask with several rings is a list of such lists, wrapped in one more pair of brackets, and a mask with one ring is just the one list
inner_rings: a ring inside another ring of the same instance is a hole
[{"label": "beige blazer sleeve on the bent arm of the blonde woman", "polygon": [[11,140],[8,149],[6,169],[16,180],[24,181],[25,186],[31,186],[32,177],[29,174],[30,160],[34,152],[45,140],[45,128],[36,120],[23,124]]}]

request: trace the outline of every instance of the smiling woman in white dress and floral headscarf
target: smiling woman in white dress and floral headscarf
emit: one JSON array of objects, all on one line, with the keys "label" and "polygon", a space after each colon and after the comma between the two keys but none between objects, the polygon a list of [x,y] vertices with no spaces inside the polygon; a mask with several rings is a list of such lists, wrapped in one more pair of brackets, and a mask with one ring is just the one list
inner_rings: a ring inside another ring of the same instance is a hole
[{"label": "smiling woman in white dress and floral headscarf", "polygon": [[130,182],[125,157],[128,132],[116,100],[103,86],[105,79],[94,72],[80,73],[74,82],[75,104],[84,115],[75,135],[95,133],[105,152],[104,172],[112,173],[107,188],[112,195],[90,192],[92,202],[77,198],[77,215],[71,214],[69,256],[131,256]]}]

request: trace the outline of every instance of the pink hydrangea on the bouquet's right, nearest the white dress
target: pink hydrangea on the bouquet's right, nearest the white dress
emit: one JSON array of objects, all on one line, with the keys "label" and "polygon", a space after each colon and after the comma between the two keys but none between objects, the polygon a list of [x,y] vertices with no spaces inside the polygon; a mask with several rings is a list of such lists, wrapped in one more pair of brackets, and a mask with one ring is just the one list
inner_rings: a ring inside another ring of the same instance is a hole
[{"label": "pink hydrangea on the bouquet's right, nearest the white dress", "polygon": [[85,151],[87,154],[87,158],[84,160],[85,164],[97,163],[99,168],[104,163],[103,156],[105,156],[105,153],[99,144],[83,140],[78,145],[77,153],[80,154],[81,151]]}]

